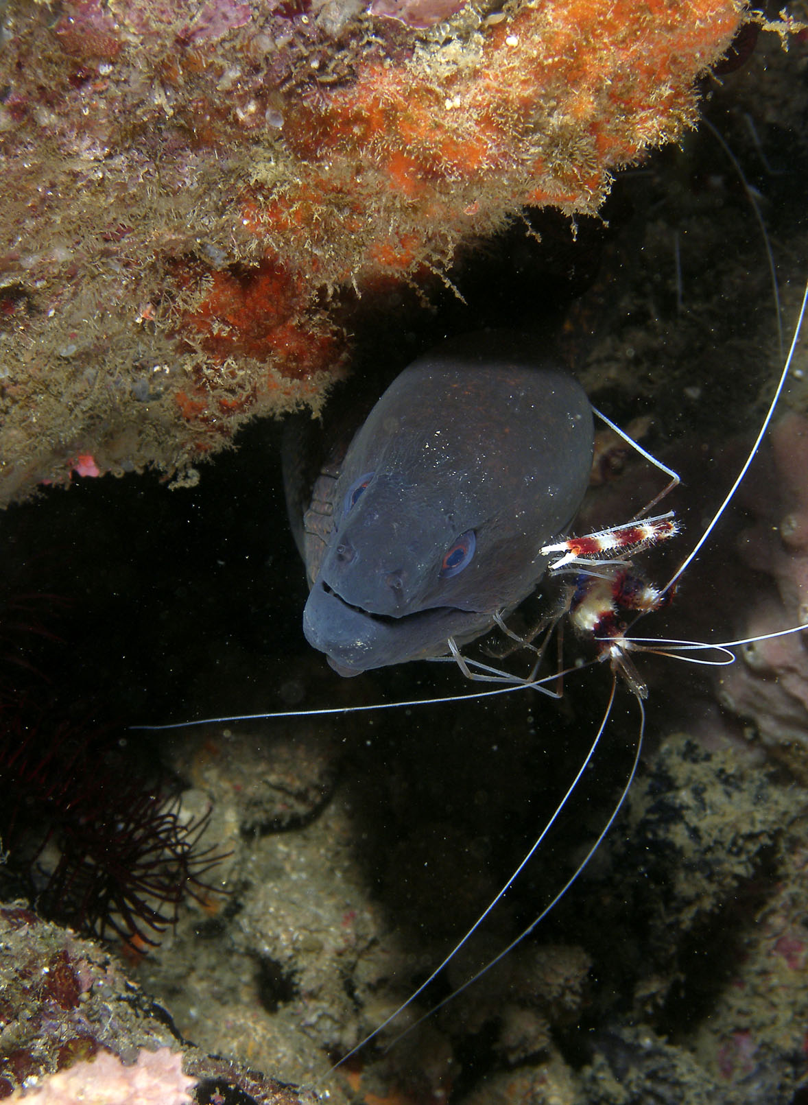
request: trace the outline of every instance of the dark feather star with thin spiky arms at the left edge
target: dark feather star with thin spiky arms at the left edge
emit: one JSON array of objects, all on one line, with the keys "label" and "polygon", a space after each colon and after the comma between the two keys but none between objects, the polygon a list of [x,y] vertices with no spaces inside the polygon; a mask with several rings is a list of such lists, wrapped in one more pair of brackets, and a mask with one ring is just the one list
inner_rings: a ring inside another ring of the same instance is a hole
[{"label": "dark feather star with thin spiky arms at the left edge", "polygon": [[108,732],[0,704],[0,887],[46,918],[104,938],[155,944],[224,855],[200,848],[211,811],[186,821]]}]

